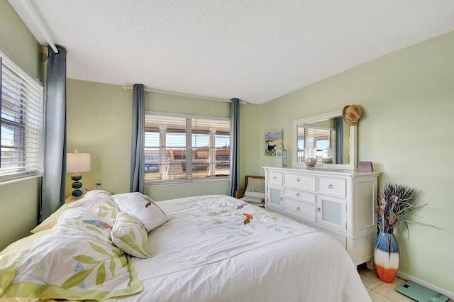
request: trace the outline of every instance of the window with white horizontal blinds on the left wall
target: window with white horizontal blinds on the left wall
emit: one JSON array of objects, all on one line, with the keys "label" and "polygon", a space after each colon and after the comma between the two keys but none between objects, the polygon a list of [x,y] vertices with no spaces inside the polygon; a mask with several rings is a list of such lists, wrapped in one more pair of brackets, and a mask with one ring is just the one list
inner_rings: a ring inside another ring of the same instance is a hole
[{"label": "window with white horizontal blinds on the left wall", "polygon": [[0,181],[40,175],[43,86],[0,52]]}]

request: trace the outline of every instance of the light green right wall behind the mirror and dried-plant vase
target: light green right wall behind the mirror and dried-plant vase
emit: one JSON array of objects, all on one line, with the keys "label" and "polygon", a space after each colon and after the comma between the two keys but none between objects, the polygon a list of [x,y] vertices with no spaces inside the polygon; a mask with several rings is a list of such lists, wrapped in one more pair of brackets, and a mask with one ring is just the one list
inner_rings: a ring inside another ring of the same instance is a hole
[{"label": "light green right wall behind the mirror and dried-plant vase", "polygon": [[[292,120],[357,104],[358,160],[371,161],[380,184],[421,190],[422,225],[397,230],[399,270],[454,292],[452,153],[454,31],[323,79],[261,106],[260,135],[284,128],[292,155]],[[261,151],[260,166],[272,165]]]}]

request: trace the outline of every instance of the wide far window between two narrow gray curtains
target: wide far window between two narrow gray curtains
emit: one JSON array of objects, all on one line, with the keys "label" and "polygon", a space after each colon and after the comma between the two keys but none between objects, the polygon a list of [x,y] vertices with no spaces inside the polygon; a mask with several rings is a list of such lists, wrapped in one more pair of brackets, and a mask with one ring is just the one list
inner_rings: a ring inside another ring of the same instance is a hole
[{"label": "wide far window between two narrow gray curtains", "polygon": [[145,182],[228,175],[228,118],[145,113]]}]

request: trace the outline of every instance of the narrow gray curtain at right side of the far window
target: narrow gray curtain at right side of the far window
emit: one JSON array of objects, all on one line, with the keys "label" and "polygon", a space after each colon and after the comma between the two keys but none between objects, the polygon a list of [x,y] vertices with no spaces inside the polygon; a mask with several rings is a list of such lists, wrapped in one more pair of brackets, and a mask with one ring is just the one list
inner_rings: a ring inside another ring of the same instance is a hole
[{"label": "narrow gray curtain at right side of the far window", "polygon": [[240,187],[240,100],[233,98],[230,106],[230,196]]}]

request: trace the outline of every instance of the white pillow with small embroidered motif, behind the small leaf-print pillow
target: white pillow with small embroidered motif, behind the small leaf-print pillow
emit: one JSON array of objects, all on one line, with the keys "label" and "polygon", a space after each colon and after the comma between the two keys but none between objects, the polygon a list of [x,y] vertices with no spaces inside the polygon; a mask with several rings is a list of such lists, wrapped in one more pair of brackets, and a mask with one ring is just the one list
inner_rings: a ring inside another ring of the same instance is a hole
[{"label": "white pillow with small embroidered motif, behind the small leaf-print pillow", "polygon": [[164,211],[146,195],[131,192],[113,196],[120,210],[137,218],[148,232],[167,221]]}]

